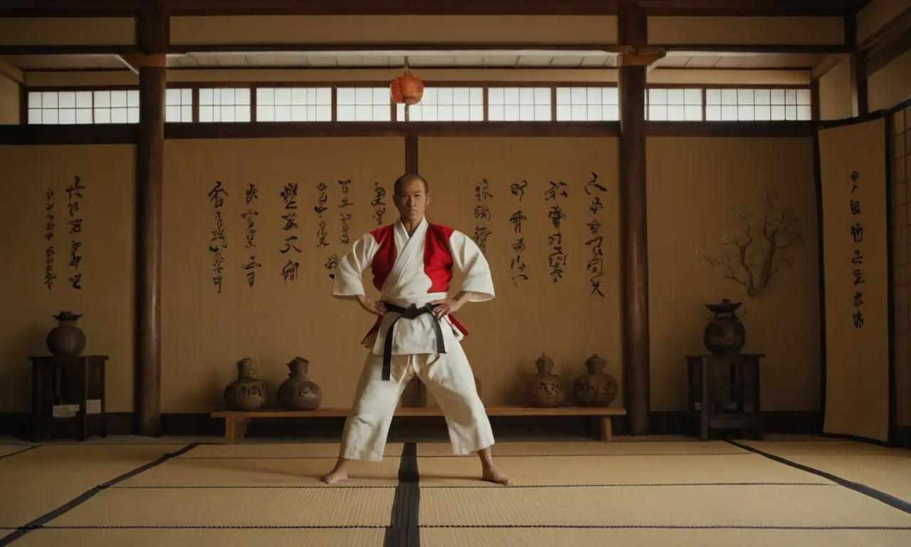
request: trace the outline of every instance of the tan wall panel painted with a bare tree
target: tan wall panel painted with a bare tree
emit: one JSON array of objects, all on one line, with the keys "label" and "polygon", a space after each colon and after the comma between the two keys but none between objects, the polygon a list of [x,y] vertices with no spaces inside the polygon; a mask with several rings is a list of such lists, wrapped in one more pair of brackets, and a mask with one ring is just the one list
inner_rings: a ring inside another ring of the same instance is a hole
[{"label": "tan wall panel painted with a bare tree", "polygon": [[651,137],[647,152],[651,409],[687,408],[684,356],[708,352],[704,304],[723,298],[742,303],[742,351],[765,354],[763,410],[819,409],[813,140]]}]

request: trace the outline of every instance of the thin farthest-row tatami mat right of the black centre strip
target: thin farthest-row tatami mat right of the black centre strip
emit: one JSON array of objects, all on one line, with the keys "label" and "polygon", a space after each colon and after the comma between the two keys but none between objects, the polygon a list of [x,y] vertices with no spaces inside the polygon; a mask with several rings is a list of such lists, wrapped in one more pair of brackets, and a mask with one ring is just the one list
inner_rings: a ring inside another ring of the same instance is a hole
[{"label": "thin farthest-row tatami mat right of the black centre strip", "polygon": [[[684,442],[497,442],[491,449],[497,456],[651,456],[673,454],[748,454],[747,450],[722,441]],[[453,456],[448,442],[422,442],[417,444],[419,457]],[[473,456],[474,457],[474,456]]]}]

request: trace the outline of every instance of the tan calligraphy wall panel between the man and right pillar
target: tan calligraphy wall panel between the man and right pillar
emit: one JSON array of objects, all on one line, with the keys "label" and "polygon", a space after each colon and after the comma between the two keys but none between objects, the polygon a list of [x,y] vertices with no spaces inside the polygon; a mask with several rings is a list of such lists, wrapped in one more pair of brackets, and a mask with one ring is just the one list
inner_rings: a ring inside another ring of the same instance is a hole
[{"label": "tan calligraphy wall panel between the man and right pillar", "polygon": [[427,218],[483,244],[493,271],[496,298],[456,314],[470,331],[463,347],[487,405],[527,404],[542,353],[553,358],[567,403],[586,359],[605,357],[620,382],[612,406],[623,405],[618,146],[612,138],[419,140]]}]

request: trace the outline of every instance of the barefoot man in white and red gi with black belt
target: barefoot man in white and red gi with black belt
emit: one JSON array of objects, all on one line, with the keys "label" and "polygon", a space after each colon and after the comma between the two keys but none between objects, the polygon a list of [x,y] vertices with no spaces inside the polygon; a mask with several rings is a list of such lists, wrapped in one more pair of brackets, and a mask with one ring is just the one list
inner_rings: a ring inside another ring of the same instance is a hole
[{"label": "barefoot man in white and red gi with black belt", "polygon": [[[490,268],[464,233],[427,222],[428,190],[427,182],[417,175],[399,177],[394,186],[399,219],[364,234],[335,271],[333,296],[357,300],[365,311],[379,317],[363,339],[371,351],[345,420],[339,459],[322,477],[328,484],[348,478],[350,459],[383,459],[395,408],[415,376],[439,402],[453,452],[477,452],[483,480],[512,484],[494,465],[490,420],[459,344],[467,330],[452,315],[466,302],[494,297]],[[453,266],[466,279],[462,291],[449,298]],[[379,301],[367,298],[364,292],[363,273],[368,268],[380,292]]]}]

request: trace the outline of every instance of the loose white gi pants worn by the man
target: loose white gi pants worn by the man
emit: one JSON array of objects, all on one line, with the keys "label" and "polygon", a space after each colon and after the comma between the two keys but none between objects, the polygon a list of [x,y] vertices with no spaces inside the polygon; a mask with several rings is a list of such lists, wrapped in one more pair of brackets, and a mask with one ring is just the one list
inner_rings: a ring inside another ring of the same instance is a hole
[{"label": "loose white gi pants worn by the man", "polygon": [[404,388],[421,378],[440,404],[457,456],[494,444],[494,433],[475,377],[462,346],[446,344],[448,353],[392,356],[389,380],[382,379],[383,356],[367,356],[351,414],[345,420],[340,455],[345,459],[381,461],[395,408]]}]

